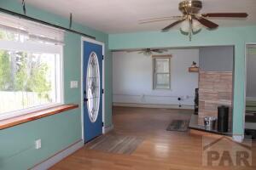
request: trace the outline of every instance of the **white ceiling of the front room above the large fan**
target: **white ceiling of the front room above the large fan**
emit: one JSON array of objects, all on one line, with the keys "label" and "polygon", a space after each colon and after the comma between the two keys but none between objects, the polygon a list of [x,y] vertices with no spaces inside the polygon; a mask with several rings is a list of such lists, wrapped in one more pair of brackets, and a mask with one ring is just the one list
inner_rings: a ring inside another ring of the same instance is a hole
[{"label": "white ceiling of the front room above the large fan", "polygon": [[[174,20],[139,25],[138,20],[180,15],[181,0],[26,0],[26,3],[69,18],[98,31],[123,33],[134,31],[159,31]],[[256,0],[202,0],[201,13],[247,12],[242,20],[212,20],[219,26],[256,25]]]}]

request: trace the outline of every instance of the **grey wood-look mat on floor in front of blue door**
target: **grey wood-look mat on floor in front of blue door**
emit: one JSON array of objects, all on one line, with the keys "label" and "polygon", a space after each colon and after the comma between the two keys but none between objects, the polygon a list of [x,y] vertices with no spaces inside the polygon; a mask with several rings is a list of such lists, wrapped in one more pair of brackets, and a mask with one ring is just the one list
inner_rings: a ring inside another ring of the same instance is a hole
[{"label": "grey wood-look mat on floor in front of blue door", "polygon": [[90,143],[85,144],[89,150],[101,150],[109,153],[131,155],[139,144],[143,143],[143,138],[124,135],[102,135]]}]

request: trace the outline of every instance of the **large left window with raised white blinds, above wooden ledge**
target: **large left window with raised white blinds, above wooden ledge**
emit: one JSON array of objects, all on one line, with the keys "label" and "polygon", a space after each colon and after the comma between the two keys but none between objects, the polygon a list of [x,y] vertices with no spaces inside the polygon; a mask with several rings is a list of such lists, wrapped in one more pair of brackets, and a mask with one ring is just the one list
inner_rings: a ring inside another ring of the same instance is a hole
[{"label": "large left window with raised white blinds, above wooden ledge", "polygon": [[0,15],[0,120],[62,103],[63,32]]}]

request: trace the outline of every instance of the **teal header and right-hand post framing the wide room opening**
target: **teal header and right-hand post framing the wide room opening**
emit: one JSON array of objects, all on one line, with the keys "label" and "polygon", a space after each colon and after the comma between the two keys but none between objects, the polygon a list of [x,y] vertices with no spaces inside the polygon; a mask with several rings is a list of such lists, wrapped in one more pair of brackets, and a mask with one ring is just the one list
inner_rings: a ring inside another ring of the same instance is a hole
[{"label": "teal header and right-hand post framing the wide room opening", "polygon": [[127,48],[180,48],[201,46],[235,46],[235,82],[233,134],[242,135],[244,128],[245,95],[245,44],[256,42],[256,26],[219,28],[215,31],[202,30],[192,37],[184,36],[178,30],[169,32],[149,31],[108,36],[109,49]]}]

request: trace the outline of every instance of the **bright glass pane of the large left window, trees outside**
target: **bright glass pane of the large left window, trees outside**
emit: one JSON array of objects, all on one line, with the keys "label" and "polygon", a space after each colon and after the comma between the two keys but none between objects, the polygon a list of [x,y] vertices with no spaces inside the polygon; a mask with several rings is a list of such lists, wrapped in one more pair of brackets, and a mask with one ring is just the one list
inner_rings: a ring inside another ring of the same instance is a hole
[{"label": "bright glass pane of the large left window, trees outside", "polygon": [[59,57],[0,49],[0,114],[57,102]]}]

